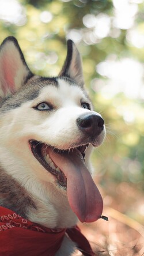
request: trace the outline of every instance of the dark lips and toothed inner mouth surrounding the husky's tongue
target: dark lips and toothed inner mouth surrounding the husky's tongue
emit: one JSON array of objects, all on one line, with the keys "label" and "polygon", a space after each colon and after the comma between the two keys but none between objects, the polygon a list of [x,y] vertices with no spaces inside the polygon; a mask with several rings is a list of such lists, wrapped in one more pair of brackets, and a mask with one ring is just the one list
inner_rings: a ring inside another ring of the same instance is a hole
[{"label": "dark lips and toothed inner mouth surrounding the husky's tongue", "polygon": [[29,140],[29,145],[31,146],[33,156],[37,159],[37,161],[39,161],[41,165],[43,165],[43,167],[48,172],[55,176],[58,185],[65,190],[67,189],[67,178],[65,174],[63,174],[62,170],[60,170],[60,168],[55,164],[54,160],[50,158],[50,156],[48,155],[48,150],[51,149],[52,151],[63,156],[66,153],[70,154],[70,152],[74,152],[76,149],[81,154],[81,158],[85,161],[85,150],[89,146],[89,144],[78,145],[75,148],[63,150],[54,148],[53,146],[36,140]]}]

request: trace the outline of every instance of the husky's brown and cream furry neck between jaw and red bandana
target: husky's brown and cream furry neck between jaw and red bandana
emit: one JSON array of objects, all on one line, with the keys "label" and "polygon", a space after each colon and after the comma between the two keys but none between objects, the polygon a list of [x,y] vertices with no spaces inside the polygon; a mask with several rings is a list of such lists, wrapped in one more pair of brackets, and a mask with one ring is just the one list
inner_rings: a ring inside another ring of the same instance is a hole
[{"label": "husky's brown and cream furry neck between jaw and red bandana", "polygon": [[31,180],[31,186],[20,185],[6,171],[0,170],[0,205],[47,228],[69,228],[77,223],[66,195],[51,185]]}]

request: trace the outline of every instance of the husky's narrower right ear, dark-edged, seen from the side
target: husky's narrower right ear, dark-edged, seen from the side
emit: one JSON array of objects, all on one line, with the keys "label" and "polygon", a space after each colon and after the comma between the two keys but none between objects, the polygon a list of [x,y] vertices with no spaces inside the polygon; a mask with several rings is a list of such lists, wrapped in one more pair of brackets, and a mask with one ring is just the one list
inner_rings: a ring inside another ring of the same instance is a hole
[{"label": "husky's narrower right ear, dark-edged, seen from the side", "polygon": [[84,85],[81,56],[72,40],[67,41],[67,57],[59,76],[70,77],[79,86]]}]

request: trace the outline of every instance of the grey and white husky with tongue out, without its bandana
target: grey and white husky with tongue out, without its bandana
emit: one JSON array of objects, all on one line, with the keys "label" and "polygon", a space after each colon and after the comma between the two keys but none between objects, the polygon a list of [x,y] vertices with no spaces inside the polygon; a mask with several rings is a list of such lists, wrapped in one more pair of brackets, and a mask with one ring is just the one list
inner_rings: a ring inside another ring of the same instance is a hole
[{"label": "grey and white husky with tongue out, without its bandana", "polygon": [[[17,40],[3,41],[0,122],[0,206],[52,229],[100,218],[103,199],[89,155],[103,142],[105,126],[85,91],[73,41],[57,77],[36,76]],[[71,255],[75,248],[65,235],[56,255]]]}]

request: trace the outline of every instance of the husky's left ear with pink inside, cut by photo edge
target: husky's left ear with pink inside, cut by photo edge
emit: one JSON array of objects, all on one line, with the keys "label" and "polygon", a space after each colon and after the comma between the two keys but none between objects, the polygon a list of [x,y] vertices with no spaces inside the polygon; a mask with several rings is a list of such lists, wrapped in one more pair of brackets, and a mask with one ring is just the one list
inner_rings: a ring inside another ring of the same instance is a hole
[{"label": "husky's left ear with pink inside, cut by photo edge", "polygon": [[18,91],[32,77],[15,37],[7,37],[0,47],[0,97]]}]

